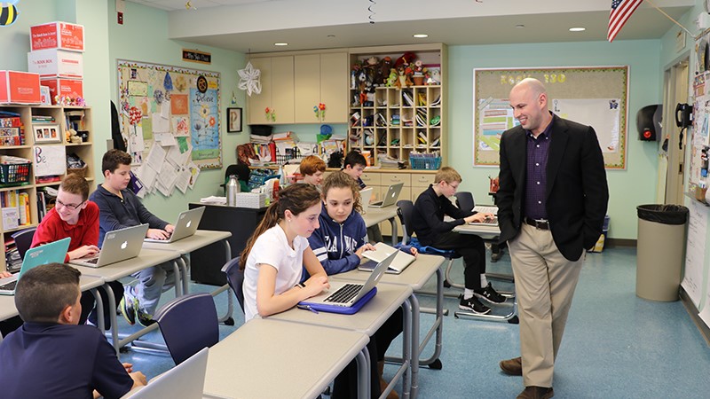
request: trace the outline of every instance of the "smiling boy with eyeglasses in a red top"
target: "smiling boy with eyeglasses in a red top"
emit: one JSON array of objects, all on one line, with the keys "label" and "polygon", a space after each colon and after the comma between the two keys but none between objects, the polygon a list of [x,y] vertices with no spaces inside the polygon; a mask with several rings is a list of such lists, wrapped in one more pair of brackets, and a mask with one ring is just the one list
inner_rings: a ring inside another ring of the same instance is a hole
[{"label": "smiling boy with eyeglasses in a red top", "polygon": [[[67,175],[59,184],[55,205],[37,226],[31,247],[67,237],[71,242],[64,262],[93,256],[99,252],[99,206],[89,200],[89,182],[74,174]],[[120,302],[123,298],[122,284],[117,281],[106,284],[114,291],[116,303]],[[108,309],[105,290],[99,290],[99,293],[104,302],[106,328],[110,328],[109,311],[115,309]],[[84,324],[88,318],[92,325],[96,325],[96,311],[91,311],[94,309],[94,296],[90,292],[82,293],[82,309],[79,323]]]}]

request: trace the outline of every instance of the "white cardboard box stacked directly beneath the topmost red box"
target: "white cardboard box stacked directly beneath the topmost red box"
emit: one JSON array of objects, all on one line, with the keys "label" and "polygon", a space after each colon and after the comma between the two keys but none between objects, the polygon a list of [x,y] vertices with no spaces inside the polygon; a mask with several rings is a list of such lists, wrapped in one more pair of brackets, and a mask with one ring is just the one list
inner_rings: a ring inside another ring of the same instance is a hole
[{"label": "white cardboard box stacked directly beneath the topmost red box", "polygon": [[28,52],[28,70],[43,77],[83,78],[83,54],[66,50]]}]

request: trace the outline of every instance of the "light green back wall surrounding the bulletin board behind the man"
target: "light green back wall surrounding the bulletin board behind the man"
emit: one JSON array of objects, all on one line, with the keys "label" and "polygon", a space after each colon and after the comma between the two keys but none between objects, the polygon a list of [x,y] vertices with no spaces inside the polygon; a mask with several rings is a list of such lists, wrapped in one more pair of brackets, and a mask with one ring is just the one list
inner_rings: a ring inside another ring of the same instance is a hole
[{"label": "light green back wall surrounding the bulletin board behind the man", "polygon": [[659,41],[617,41],[587,43],[505,44],[449,47],[449,139],[451,166],[463,177],[461,187],[473,192],[477,201],[490,202],[488,176],[498,168],[473,167],[472,116],[473,69],[524,66],[619,66],[629,68],[627,168],[607,170],[611,216],[609,236],[636,238],[635,207],[651,203],[655,196],[656,143],[637,138],[636,112],[643,106],[658,104]]}]

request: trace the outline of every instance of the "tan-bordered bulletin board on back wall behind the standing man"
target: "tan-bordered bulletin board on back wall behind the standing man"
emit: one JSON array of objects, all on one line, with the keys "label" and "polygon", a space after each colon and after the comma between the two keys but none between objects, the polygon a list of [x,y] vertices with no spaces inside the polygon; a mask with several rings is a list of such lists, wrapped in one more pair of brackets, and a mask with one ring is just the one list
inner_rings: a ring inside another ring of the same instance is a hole
[{"label": "tan-bordered bulletin board on back wall behind the standing man", "polygon": [[595,129],[606,168],[626,168],[628,66],[474,69],[475,166],[499,164],[501,134],[518,124],[510,89],[528,77],[545,85],[553,113]]}]

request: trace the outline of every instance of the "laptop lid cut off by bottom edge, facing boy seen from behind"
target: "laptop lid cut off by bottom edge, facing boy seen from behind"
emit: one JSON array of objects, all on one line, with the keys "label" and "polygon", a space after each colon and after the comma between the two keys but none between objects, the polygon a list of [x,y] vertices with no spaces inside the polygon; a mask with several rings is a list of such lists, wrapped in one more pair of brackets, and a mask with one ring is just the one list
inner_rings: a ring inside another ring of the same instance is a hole
[{"label": "laptop lid cut off by bottom edge, facing boy seen from behind", "polygon": [[209,348],[203,348],[185,362],[151,379],[145,387],[131,390],[123,398],[180,397],[201,399],[207,374]]}]

